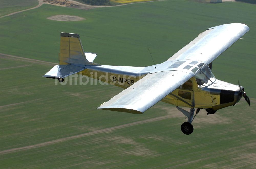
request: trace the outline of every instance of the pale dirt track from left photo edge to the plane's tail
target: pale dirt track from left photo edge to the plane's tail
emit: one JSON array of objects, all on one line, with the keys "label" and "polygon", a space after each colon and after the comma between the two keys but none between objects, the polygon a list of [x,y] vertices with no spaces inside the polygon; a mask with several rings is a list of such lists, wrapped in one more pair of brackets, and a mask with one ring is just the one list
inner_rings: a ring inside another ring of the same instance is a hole
[{"label": "pale dirt track from left photo edge to the plane's tail", "polygon": [[9,60],[24,61],[24,62],[35,63],[35,64],[40,64],[40,65],[51,65],[51,66],[58,65],[58,63],[46,62],[46,61],[41,61],[41,60],[37,60],[37,59],[29,59],[29,58],[13,56],[13,55],[3,54],[3,53],[0,53],[0,58],[9,59]]}]

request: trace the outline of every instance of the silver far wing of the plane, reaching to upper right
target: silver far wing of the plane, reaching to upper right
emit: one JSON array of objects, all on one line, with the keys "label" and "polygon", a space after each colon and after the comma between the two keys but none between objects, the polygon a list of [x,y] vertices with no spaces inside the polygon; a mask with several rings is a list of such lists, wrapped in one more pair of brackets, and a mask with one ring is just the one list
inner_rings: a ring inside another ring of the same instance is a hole
[{"label": "silver far wing of the plane, reaching to upper right", "polygon": [[249,27],[241,23],[209,28],[166,62],[190,59],[210,64],[248,31]]}]

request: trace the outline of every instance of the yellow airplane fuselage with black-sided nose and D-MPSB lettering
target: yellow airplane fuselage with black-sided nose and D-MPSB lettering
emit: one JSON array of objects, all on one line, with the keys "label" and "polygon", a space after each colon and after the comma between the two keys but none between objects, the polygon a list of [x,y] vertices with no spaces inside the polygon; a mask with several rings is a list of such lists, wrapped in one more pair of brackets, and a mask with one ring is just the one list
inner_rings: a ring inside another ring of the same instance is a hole
[{"label": "yellow airplane fuselage with black-sided nose and D-MPSB lettering", "polygon": [[[184,65],[182,67],[184,67]],[[212,75],[207,64],[202,64],[200,67],[191,66],[190,68],[191,70],[196,68],[195,74],[201,74],[199,77],[192,77],[184,84],[181,84],[179,88],[165,96],[161,101],[175,106],[204,108],[216,111],[224,107],[235,105],[240,100],[242,94],[238,85],[217,80]],[[148,69],[152,70],[152,67]],[[209,78],[213,81],[207,79],[206,74],[201,73],[201,69],[204,69],[205,72],[211,76]],[[136,74],[125,72],[125,70],[122,70],[122,66],[120,66],[120,70],[117,71],[116,66],[115,69],[113,69],[110,66],[103,65],[100,67],[88,66],[87,69],[81,71],[80,74],[126,89],[149,73],[146,72],[146,70],[143,72],[143,70],[145,70],[145,68],[143,69],[143,67],[141,67],[141,70],[138,70],[140,73]],[[189,71],[189,69],[186,69],[186,71]],[[200,76],[205,77],[202,78]]]}]

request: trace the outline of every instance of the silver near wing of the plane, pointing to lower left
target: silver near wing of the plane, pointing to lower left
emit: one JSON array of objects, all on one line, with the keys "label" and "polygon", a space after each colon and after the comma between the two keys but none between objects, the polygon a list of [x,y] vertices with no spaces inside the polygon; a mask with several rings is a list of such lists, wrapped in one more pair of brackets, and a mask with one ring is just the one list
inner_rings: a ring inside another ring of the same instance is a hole
[{"label": "silver near wing of the plane, pointing to lower left", "polygon": [[147,74],[98,109],[143,113],[191,77],[193,75],[182,71]]}]

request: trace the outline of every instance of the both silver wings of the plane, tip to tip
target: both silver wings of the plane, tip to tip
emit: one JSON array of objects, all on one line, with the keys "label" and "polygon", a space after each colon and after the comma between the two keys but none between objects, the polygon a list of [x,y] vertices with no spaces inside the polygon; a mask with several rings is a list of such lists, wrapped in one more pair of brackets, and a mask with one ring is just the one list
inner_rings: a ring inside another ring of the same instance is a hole
[{"label": "both silver wings of the plane, tip to tip", "polygon": [[186,72],[185,67],[183,69],[177,67],[176,70],[171,69],[169,66],[175,61],[196,60],[210,64],[247,31],[249,31],[249,27],[240,23],[225,24],[207,29],[166,62],[159,64],[158,71],[160,72],[147,74],[102,104],[98,109],[129,113],[145,112],[194,76],[193,72]]}]

